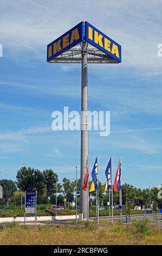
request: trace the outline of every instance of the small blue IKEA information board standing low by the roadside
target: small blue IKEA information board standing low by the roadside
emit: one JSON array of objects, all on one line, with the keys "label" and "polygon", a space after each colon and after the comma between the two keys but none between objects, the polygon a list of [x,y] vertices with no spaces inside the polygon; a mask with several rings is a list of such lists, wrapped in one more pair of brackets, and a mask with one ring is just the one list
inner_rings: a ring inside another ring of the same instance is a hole
[{"label": "small blue IKEA information board standing low by the roadside", "polygon": [[24,212],[24,223],[26,214],[36,214],[36,190],[25,191],[25,212]]}]

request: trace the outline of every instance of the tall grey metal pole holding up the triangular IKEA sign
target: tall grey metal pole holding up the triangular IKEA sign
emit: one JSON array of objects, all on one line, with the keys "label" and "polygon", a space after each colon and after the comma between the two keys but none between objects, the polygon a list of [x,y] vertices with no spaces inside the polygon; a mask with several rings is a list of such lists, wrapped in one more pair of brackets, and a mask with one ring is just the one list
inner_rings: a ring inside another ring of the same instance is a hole
[{"label": "tall grey metal pole holding up the triangular IKEA sign", "polygon": [[80,208],[83,218],[88,217],[87,212],[87,192],[82,190],[86,172],[86,160],[88,155],[88,88],[87,88],[87,53],[86,42],[82,42],[82,74],[81,74],[81,191],[80,191]]}]

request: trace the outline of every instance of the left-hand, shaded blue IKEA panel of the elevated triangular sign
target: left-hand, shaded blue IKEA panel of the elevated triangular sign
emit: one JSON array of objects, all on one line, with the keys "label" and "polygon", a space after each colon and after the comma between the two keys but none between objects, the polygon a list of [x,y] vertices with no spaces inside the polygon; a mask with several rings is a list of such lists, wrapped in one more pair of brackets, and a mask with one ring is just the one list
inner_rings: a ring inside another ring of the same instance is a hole
[{"label": "left-hand, shaded blue IKEA panel of the elevated triangular sign", "polygon": [[84,23],[77,24],[74,28],[61,35],[47,45],[47,62],[66,52],[84,39]]}]

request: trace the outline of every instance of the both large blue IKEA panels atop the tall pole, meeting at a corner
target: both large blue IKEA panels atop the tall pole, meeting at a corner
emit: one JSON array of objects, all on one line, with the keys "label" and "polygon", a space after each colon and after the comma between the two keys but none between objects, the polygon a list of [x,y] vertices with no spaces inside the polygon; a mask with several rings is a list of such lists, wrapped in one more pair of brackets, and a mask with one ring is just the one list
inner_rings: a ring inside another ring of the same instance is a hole
[{"label": "both large blue IKEA panels atop the tall pole, meeting at a corner", "polygon": [[47,62],[60,56],[70,48],[87,41],[107,56],[121,62],[121,45],[103,34],[87,21],[83,21],[61,35],[47,46]]}]

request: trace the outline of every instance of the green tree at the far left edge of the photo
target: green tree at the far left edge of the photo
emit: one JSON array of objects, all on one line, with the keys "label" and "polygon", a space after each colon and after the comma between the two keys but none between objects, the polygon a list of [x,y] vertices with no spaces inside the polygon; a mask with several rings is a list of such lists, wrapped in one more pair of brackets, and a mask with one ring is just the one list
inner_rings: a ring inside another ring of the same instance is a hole
[{"label": "green tree at the far left edge of the photo", "polygon": [[8,200],[13,196],[14,192],[17,191],[17,187],[13,180],[3,179],[0,180],[0,185],[3,188],[3,199]]}]

